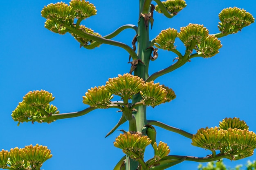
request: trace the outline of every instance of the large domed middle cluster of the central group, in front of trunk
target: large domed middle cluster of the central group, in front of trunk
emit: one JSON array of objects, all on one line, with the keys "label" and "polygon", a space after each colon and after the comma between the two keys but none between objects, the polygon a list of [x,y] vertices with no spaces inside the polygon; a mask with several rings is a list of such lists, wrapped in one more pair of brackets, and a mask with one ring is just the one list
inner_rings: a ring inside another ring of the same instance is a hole
[{"label": "large domed middle cluster of the central group, in front of trunk", "polygon": [[133,76],[129,73],[119,74],[118,77],[109,78],[105,87],[112,94],[123,99],[130,99],[144,89],[144,81],[139,76]]}]

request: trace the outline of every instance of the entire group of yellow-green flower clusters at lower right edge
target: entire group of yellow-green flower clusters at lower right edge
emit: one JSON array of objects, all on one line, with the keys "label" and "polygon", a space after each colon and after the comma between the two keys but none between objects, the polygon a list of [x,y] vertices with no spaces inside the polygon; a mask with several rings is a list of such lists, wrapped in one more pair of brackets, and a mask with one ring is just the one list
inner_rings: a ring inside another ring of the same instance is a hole
[{"label": "entire group of yellow-green flower clusters at lower right edge", "polygon": [[[256,134],[239,118],[225,118],[219,127],[201,128],[192,137],[192,145],[209,149],[212,157],[224,154],[231,160],[253,155],[256,148]],[[220,153],[216,155],[216,150]]]}]

